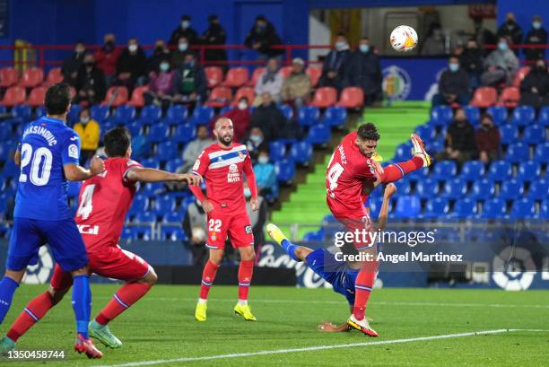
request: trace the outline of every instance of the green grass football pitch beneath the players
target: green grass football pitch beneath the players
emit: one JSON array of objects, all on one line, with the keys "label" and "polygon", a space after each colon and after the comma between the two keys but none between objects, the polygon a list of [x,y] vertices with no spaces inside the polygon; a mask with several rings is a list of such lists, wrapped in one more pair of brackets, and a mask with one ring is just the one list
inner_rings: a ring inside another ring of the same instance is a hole
[{"label": "green grass football pitch beneath the players", "polygon": [[[92,284],[92,315],[118,285]],[[22,285],[2,335],[45,285]],[[70,296],[22,336],[17,349],[64,349],[64,362],[10,362],[3,366],[546,366],[549,360],[549,292],[376,289],[367,316],[378,338],[357,331],[322,333],[320,321],[342,323],[344,297],[328,289],[253,287],[257,322],[232,308],[236,286],[213,286],[208,319],[197,322],[198,286],[157,285],[110,324],[124,345],[88,360],[72,350]],[[475,332],[478,332],[475,335]]]}]

